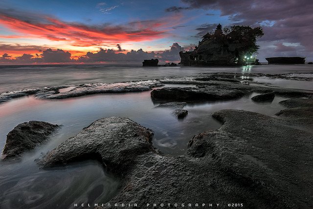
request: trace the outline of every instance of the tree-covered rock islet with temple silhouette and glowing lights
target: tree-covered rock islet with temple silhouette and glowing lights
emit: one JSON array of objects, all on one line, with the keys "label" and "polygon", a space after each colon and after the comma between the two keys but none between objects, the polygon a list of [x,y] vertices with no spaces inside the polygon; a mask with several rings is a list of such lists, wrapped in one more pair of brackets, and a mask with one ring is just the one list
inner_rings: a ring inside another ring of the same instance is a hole
[{"label": "tree-covered rock islet with temple silhouette and glowing lights", "polygon": [[234,25],[223,30],[218,24],[215,31],[206,33],[194,51],[180,51],[182,66],[258,64],[256,39],[263,35],[261,27]]}]

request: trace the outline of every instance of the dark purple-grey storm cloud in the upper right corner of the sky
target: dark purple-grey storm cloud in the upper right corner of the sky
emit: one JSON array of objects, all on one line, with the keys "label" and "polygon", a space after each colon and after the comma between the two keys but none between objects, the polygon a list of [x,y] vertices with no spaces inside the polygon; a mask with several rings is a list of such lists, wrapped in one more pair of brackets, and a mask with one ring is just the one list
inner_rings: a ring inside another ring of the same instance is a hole
[{"label": "dark purple-grey storm cloud in the upper right corner of the sky", "polygon": [[265,32],[261,41],[301,43],[306,47],[306,51],[313,50],[312,0],[181,0],[181,2],[188,8],[220,10],[221,16],[228,16],[229,20],[236,24],[261,25]]}]

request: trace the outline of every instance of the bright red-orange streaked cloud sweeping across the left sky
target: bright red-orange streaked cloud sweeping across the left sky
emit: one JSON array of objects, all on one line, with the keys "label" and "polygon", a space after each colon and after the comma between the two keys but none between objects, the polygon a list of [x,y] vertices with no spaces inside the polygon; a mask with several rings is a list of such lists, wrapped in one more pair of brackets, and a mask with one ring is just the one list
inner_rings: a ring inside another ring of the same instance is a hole
[{"label": "bright red-orange streaked cloud sweeping across the left sky", "polygon": [[102,46],[163,38],[167,31],[165,27],[169,23],[139,21],[129,25],[88,26],[82,23],[65,23],[51,17],[44,17],[40,21],[29,21],[0,14],[0,24],[21,34],[1,36],[3,38],[45,38],[51,41],[64,41],[72,46]]}]

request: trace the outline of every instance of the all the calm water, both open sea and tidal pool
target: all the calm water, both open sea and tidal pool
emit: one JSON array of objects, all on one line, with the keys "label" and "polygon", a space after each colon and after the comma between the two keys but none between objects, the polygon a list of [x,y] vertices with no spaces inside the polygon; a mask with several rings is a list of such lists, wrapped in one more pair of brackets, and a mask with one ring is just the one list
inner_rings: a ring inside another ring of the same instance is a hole
[{"label": "all the calm water, both open sea and tidal pool", "polygon": [[[253,66],[252,68],[144,69],[126,66],[0,68],[1,92],[40,86],[152,79],[208,71],[246,72],[247,70],[257,73],[313,71],[312,66],[309,65]],[[299,84],[297,87],[302,89],[312,88],[312,82],[297,83]],[[294,88],[292,81],[284,80],[283,85]],[[251,101],[254,95],[256,94],[231,101],[189,104],[185,107],[188,116],[183,120],[178,120],[171,115],[171,109],[154,108],[158,104],[151,100],[150,91],[89,95],[62,100],[38,100],[28,96],[0,104],[1,149],[5,144],[7,133],[19,123],[43,120],[63,125],[48,143],[23,155],[21,162],[0,163],[0,208],[73,208],[74,203],[109,201],[120,189],[120,184],[118,179],[104,171],[99,163],[86,161],[58,169],[41,170],[34,162],[41,153],[46,153],[62,141],[75,136],[96,119],[108,116],[129,117],[155,131],[153,143],[165,154],[181,155],[186,151],[188,140],[194,135],[221,126],[211,117],[211,114],[217,110],[244,109],[274,116],[284,109],[278,102],[286,98],[276,96],[272,103],[257,104]]]}]

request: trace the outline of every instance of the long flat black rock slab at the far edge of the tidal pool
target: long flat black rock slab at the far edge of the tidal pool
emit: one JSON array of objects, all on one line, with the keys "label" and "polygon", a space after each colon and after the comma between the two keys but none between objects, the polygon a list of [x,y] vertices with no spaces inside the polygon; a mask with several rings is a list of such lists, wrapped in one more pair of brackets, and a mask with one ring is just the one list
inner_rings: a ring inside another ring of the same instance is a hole
[{"label": "long flat black rock slab at the far edge of the tidal pool", "polygon": [[172,101],[196,101],[196,100],[226,100],[244,96],[246,93],[229,88],[217,88],[212,86],[185,87],[185,88],[162,88],[151,92],[153,99],[164,99]]}]

